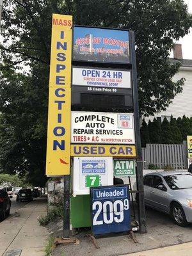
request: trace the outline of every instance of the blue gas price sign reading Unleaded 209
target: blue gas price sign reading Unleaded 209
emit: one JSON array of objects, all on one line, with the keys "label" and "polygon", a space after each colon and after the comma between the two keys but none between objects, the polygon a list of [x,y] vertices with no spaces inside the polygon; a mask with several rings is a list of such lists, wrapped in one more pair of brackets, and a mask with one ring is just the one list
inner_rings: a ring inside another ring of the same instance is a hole
[{"label": "blue gas price sign reading Unleaded 209", "polygon": [[125,232],[131,229],[127,185],[90,188],[93,235]]}]

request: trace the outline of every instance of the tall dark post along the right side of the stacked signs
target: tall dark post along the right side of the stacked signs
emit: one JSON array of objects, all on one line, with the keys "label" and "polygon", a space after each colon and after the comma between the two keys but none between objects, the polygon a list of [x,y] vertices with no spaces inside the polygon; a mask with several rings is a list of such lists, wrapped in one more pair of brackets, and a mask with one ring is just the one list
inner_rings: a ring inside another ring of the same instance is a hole
[{"label": "tall dark post along the right side of the stacked signs", "polygon": [[143,188],[143,164],[141,152],[141,135],[140,135],[140,114],[138,102],[138,81],[136,70],[136,54],[135,54],[135,41],[134,31],[129,31],[129,42],[131,46],[131,63],[132,63],[132,95],[134,105],[134,129],[135,129],[135,144],[136,144],[136,179],[139,191],[139,225],[140,232],[147,233],[145,204],[144,204],[144,188]]}]

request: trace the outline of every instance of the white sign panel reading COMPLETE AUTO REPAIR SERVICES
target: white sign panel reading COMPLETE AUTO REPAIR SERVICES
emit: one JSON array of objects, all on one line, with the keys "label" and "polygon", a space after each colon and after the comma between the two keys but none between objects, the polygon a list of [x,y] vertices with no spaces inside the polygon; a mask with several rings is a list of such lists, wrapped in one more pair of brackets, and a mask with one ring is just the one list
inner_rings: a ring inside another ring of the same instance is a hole
[{"label": "white sign panel reading COMPLETE AUTO REPAIR SERVICES", "polygon": [[72,111],[71,120],[71,143],[135,143],[131,113]]}]

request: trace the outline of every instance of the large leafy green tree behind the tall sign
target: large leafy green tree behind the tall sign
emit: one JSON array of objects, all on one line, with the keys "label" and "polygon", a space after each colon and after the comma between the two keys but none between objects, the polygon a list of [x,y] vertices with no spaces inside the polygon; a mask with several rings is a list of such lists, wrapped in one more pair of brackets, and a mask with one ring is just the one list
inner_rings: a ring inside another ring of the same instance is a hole
[{"label": "large leafy green tree behind the tall sign", "polygon": [[[152,115],[182,91],[173,82],[180,63],[168,59],[173,41],[186,35],[191,15],[182,0],[8,0],[3,4],[0,79],[0,169],[40,174],[45,182],[47,95],[52,13],[74,24],[134,30],[140,111]],[[28,72],[23,72],[23,66]],[[17,72],[15,72],[17,70]],[[20,74],[22,72],[22,74]],[[154,96],[154,97],[153,97]]]}]

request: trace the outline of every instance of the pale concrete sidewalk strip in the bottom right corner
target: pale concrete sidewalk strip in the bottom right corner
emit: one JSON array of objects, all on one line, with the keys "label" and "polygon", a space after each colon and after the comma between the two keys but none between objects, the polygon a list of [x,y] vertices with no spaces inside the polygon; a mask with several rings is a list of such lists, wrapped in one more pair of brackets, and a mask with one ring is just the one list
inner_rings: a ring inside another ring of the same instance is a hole
[{"label": "pale concrete sidewalk strip in the bottom right corner", "polygon": [[144,252],[129,253],[124,256],[191,256],[192,255],[192,242],[177,244],[164,248],[148,250]]}]

